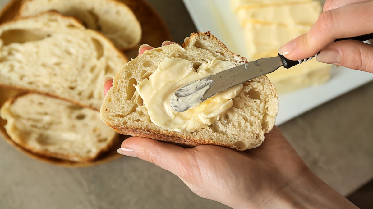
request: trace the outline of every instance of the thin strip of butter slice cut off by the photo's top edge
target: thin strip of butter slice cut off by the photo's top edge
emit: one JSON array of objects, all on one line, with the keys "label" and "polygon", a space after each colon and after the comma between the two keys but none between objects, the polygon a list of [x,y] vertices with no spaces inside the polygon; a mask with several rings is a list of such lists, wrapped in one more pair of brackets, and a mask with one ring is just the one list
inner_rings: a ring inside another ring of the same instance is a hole
[{"label": "thin strip of butter slice cut off by the photo's top edge", "polygon": [[231,7],[233,12],[237,12],[239,9],[251,8],[263,5],[282,5],[287,3],[298,3],[312,0],[231,0]]}]

